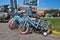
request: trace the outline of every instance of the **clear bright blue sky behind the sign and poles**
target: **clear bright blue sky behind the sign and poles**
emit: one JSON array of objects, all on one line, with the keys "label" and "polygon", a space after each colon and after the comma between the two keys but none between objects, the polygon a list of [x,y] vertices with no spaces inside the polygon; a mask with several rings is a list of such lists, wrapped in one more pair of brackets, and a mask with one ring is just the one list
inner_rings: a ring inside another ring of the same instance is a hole
[{"label": "clear bright blue sky behind the sign and poles", "polygon": [[[20,6],[25,6],[23,4],[24,0],[17,0]],[[1,5],[10,4],[10,0],[0,0]],[[38,9],[59,9],[60,10],[60,0],[39,0],[38,1]]]}]

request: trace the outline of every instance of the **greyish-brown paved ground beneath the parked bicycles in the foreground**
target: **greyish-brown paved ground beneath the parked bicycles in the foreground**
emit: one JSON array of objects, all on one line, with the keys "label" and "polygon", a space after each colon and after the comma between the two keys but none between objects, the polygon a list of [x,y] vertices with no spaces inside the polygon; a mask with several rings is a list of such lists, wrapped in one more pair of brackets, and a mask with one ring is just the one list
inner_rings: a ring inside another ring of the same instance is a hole
[{"label": "greyish-brown paved ground beneath the parked bicycles in the foreground", "polygon": [[37,33],[21,35],[17,29],[10,30],[7,23],[0,23],[0,40],[60,40],[60,36],[51,34],[44,37]]}]

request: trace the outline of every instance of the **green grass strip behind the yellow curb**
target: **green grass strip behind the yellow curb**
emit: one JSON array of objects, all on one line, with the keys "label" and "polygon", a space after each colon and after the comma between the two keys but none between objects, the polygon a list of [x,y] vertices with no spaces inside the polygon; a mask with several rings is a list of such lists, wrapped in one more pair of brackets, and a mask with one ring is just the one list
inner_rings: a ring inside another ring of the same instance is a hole
[{"label": "green grass strip behind the yellow curb", "polygon": [[52,29],[60,32],[60,18],[42,18],[51,22]]}]

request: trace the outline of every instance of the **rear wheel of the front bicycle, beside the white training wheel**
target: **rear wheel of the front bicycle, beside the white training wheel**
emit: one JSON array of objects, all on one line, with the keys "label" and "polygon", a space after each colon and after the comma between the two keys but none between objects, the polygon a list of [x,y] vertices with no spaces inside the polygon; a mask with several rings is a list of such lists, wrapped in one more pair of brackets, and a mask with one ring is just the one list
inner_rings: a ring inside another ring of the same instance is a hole
[{"label": "rear wheel of the front bicycle, beside the white training wheel", "polygon": [[51,34],[52,32],[52,27],[51,27],[51,24],[43,24],[41,27],[40,27],[40,32],[45,34]]}]

